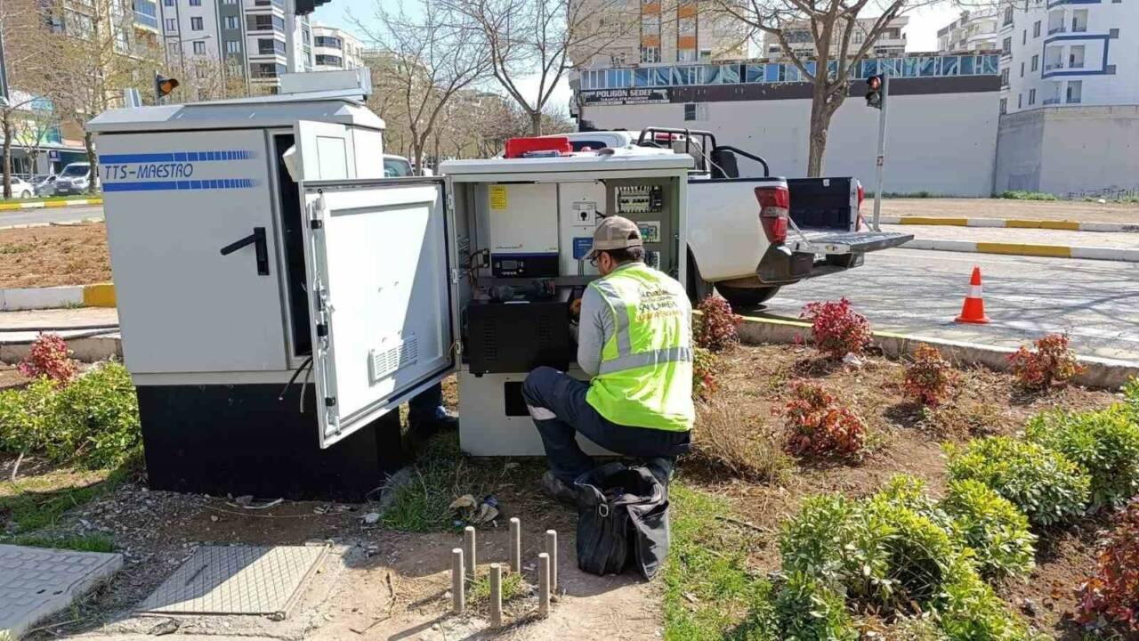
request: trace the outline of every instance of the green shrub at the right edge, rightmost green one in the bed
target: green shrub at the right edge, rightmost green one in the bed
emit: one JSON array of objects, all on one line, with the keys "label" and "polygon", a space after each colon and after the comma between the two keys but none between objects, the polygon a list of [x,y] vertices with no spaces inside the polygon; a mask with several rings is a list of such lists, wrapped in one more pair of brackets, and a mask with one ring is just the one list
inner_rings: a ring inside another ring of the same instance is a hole
[{"label": "green shrub at the right edge, rightmost green one in the bed", "polygon": [[1091,477],[1093,508],[1118,508],[1139,493],[1139,423],[1128,406],[1040,414],[1029,421],[1027,436]]}]

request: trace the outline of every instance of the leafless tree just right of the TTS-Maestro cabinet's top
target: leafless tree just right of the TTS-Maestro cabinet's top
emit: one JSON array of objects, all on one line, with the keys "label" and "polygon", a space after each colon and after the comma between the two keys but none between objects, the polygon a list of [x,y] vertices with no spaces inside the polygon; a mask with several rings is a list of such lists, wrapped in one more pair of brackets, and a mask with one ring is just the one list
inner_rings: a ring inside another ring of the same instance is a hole
[{"label": "leafless tree just right of the TTS-Maestro cabinet's top", "polygon": [[448,105],[486,76],[490,56],[461,15],[431,0],[419,0],[415,11],[404,10],[402,3],[390,10],[384,1],[376,3],[377,29],[359,21],[357,26],[382,50],[379,89],[395,98],[395,108],[388,108],[384,117],[402,119],[416,170],[421,173],[425,149]]}]

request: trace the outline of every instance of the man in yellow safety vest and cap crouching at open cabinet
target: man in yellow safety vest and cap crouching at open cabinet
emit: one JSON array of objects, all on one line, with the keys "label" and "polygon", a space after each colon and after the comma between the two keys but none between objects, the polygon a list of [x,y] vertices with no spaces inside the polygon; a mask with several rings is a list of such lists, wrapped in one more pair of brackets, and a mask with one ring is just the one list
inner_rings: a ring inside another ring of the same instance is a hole
[{"label": "man in yellow safety vest and cap crouching at open cabinet", "polygon": [[573,502],[574,480],[593,469],[577,432],[647,460],[666,482],[689,448],[693,408],[691,306],[680,283],[645,265],[637,224],[606,218],[588,257],[601,277],[585,287],[577,330],[579,381],[552,367],[526,376],[523,396],[546,447],[547,494]]}]

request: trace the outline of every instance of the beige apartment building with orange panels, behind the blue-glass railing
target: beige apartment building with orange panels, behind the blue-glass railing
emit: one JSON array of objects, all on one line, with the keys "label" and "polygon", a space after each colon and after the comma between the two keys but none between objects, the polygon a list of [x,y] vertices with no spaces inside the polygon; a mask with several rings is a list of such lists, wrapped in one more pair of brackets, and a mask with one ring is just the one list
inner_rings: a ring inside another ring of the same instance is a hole
[{"label": "beige apartment building with orange panels, behind the blue-glass railing", "polygon": [[570,51],[577,68],[708,63],[747,57],[747,31],[712,0],[574,0],[580,31],[597,34]]}]

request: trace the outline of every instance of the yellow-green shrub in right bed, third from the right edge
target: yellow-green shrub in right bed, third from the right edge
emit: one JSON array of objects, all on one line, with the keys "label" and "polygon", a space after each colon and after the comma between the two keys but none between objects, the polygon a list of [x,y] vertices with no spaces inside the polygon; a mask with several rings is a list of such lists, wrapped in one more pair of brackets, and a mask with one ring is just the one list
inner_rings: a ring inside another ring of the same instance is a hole
[{"label": "yellow-green shrub in right bed, third from the right edge", "polygon": [[1029,519],[1007,498],[976,480],[949,484],[942,509],[953,518],[986,577],[1025,576],[1034,566],[1036,536]]}]

